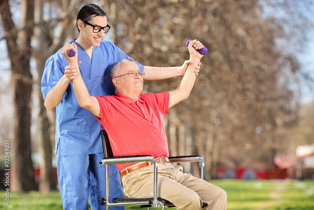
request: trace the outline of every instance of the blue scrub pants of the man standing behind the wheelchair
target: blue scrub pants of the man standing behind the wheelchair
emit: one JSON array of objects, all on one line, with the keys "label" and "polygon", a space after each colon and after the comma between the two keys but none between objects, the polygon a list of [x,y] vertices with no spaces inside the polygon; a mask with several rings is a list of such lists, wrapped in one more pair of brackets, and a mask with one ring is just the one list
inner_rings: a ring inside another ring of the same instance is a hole
[{"label": "blue scrub pants of the man standing behind the wheelchair", "polygon": [[[88,199],[92,210],[104,209],[99,200],[106,197],[105,166],[99,165],[104,154],[60,155],[57,154],[58,181],[63,209],[88,210]],[[109,165],[109,194],[112,198],[124,197],[119,171],[115,164]],[[125,207],[111,207],[124,210]]]}]

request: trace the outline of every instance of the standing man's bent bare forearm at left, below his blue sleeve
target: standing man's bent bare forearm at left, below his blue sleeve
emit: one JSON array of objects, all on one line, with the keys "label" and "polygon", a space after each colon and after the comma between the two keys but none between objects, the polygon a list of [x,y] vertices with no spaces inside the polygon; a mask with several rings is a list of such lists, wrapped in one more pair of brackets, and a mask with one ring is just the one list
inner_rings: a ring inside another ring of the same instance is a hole
[{"label": "standing man's bent bare forearm at left, below his blue sleeve", "polygon": [[66,76],[63,75],[59,82],[48,91],[44,102],[44,105],[48,111],[52,110],[58,104],[60,104],[63,95],[69,86],[69,83],[70,82],[67,80]]}]

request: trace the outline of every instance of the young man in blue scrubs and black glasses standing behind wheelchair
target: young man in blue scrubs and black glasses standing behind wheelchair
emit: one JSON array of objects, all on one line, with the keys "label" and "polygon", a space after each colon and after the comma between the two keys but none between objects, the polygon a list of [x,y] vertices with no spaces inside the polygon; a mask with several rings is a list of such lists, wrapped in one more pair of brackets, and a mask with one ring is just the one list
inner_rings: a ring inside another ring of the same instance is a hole
[{"label": "young man in blue scrubs and black glasses standing behind wheelchair", "polygon": [[[99,204],[106,189],[105,169],[99,165],[103,158],[101,124],[90,111],[78,104],[71,82],[78,73],[65,71],[65,67],[79,60],[80,74],[89,94],[112,95],[115,88],[109,76],[110,68],[117,61],[130,57],[112,42],[101,41],[110,26],[107,25],[106,13],[99,6],[85,5],[78,13],[77,27],[78,38],[66,43],[46,61],[41,91],[47,110],[56,107],[55,152],[63,209],[88,209],[88,199],[91,209],[105,209]],[[74,48],[71,43],[77,45],[78,60],[66,55],[69,48]],[[157,80],[184,75],[189,63],[186,61],[180,67],[169,68],[137,65],[145,71],[146,80]],[[198,69],[199,66],[196,74]],[[115,165],[109,166],[109,175],[110,197],[123,197]]]}]

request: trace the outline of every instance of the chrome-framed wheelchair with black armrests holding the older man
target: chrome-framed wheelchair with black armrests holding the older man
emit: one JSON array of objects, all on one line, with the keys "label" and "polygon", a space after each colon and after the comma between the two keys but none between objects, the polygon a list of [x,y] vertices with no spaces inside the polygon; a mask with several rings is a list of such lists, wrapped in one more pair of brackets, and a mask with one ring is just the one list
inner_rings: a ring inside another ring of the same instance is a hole
[{"label": "chrome-framed wheelchair with black armrests holding the older man", "polygon": [[[104,150],[104,158],[99,162],[100,165],[105,165],[105,181],[106,181],[106,198],[100,198],[100,205],[106,205],[106,210],[109,210],[110,207],[114,206],[138,206],[140,208],[146,208],[150,210],[152,205],[154,208],[158,208],[165,210],[165,206],[167,207],[175,207],[171,202],[157,197],[157,172],[158,166],[157,162],[154,160],[154,157],[151,155],[138,155],[138,156],[119,156],[114,157],[111,150],[111,145],[109,142],[109,138],[106,130],[102,129],[101,131],[101,139]],[[201,165],[201,179],[204,179],[204,162],[202,161],[202,156],[174,156],[168,157],[171,163],[180,163],[180,162],[199,162]],[[112,203],[109,199],[109,164],[117,164],[117,163],[133,163],[133,162],[152,162],[154,166],[154,197],[153,198],[128,198],[128,197],[119,197],[113,198]]]}]

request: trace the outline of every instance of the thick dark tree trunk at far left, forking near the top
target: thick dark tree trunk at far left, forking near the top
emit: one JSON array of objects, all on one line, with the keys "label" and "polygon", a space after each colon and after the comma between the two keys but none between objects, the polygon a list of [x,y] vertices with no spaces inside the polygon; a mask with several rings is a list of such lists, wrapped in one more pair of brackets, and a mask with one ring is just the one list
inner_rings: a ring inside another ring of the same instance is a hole
[{"label": "thick dark tree trunk at far left, forking near the top", "polygon": [[[21,192],[36,190],[34,169],[31,154],[36,148],[30,141],[31,93],[32,75],[30,73],[31,46],[33,30],[25,29],[17,35],[8,35],[16,26],[8,0],[1,2],[3,28],[5,31],[8,55],[11,62],[13,101],[16,108],[14,117],[14,139],[12,139],[12,183],[10,190]],[[34,0],[21,1],[21,26],[32,24],[34,21]],[[18,41],[18,42],[17,42]],[[19,44],[18,44],[19,43]]]}]

